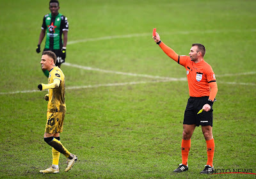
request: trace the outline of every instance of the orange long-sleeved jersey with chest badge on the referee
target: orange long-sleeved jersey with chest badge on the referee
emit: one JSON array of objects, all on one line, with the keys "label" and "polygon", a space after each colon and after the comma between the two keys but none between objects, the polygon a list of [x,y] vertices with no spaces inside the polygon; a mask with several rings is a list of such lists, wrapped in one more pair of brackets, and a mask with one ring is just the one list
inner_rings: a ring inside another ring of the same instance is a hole
[{"label": "orange long-sleeved jersey with chest badge on the referee", "polygon": [[188,88],[190,97],[209,97],[214,102],[218,87],[215,74],[211,66],[204,60],[199,63],[191,61],[189,56],[179,56],[163,42],[159,47],[173,60],[187,70]]}]

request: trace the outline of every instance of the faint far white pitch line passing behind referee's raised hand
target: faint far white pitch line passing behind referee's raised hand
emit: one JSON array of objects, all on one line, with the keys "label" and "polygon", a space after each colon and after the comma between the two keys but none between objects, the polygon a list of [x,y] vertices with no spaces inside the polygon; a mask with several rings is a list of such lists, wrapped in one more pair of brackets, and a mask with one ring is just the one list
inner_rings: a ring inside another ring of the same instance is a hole
[{"label": "faint far white pitch line passing behind referee's raised hand", "polygon": [[[255,32],[256,29],[223,29],[223,30],[206,30],[206,31],[175,31],[175,32],[169,32],[169,33],[161,33],[163,35],[188,35],[193,33],[242,33],[242,32]],[[140,34],[129,34],[129,35],[113,35],[113,36],[102,36],[102,37],[96,37],[96,38],[84,38],[81,40],[73,40],[69,41],[68,45],[75,44],[75,43],[82,43],[82,42],[94,42],[99,40],[110,40],[115,38],[132,38],[132,37],[138,37],[138,36],[152,36],[152,33],[140,33]]]}]

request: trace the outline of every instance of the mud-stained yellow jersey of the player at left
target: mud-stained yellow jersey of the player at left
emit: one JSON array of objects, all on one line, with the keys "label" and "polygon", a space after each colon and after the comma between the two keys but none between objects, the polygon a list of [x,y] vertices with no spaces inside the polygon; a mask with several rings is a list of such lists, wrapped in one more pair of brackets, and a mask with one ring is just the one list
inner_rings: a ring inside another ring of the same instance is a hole
[{"label": "mud-stained yellow jersey of the player at left", "polygon": [[47,105],[47,111],[64,112],[66,111],[65,75],[58,66],[55,66],[50,71],[48,84],[52,83],[54,79],[60,80],[60,86],[58,88],[49,89],[49,102]]}]

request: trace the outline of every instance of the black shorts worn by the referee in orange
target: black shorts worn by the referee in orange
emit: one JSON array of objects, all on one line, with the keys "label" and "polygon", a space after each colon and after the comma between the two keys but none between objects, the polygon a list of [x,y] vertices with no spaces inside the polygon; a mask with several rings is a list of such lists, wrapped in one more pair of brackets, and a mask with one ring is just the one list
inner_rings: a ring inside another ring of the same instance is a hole
[{"label": "black shorts worn by the referee in orange", "polygon": [[183,124],[196,126],[202,125],[211,125],[212,127],[212,106],[211,110],[206,112],[203,111],[200,114],[197,114],[202,107],[207,104],[207,100],[209,97],[190,97],[188,99],[188,104],[184,113],[184,121]]}]

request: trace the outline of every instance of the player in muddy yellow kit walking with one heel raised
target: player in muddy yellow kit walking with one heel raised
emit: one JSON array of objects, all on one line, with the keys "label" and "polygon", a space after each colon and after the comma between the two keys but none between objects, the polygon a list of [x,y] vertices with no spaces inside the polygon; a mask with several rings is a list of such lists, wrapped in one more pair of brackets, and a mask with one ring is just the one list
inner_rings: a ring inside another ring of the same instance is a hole
[{"label": "player in muddy yellow kit walking with one heel raised", "polygon": [[65,75],[56,63],[56,54],[51,51],[44,51],[41,58],[43,70],[48,70],[48,84],[39,84],[40,91],[49,90],[45,95],[45,100],[49,100],[47,105],[47,121],[45,125],[44,141],[52,146],[52,165],[51,167],[40,170],[40,173],[59,173],[60,153],[67,157],[67,167],[69,171],[77,161],[77,156],[68,152],[60,142],[60,132],[63,131],[63,121],[66,113],[65,105]]}]

